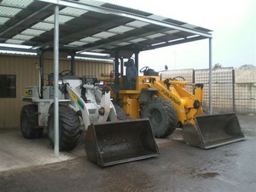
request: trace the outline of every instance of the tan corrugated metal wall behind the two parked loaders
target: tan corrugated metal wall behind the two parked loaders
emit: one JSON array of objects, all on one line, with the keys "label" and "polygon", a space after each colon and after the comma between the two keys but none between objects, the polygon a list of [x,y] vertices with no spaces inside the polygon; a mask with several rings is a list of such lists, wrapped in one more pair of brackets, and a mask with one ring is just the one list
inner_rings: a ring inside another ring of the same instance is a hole
[{"label": "tan corrugated metal wall behind the two parked loaders", "polygon": [[[0,128],[19,127],[20,109],[28,104],[21,102],[23,89],[26,85],[38,85],[39,76],[35,63],[39,63],[38,57],[20,55],[0,55],[0,74],[16,75],[16,98],[0,98]],[[99,78],[102,73],[110,73],[112,63],[100,61],[75,61],[76,75],[79,77],[95,76]],[[60,72],[70,70],[70,60],[60,60]],[[53,73],[53,60],[44,59],[44,84],[47,83],[48,74]]]}]

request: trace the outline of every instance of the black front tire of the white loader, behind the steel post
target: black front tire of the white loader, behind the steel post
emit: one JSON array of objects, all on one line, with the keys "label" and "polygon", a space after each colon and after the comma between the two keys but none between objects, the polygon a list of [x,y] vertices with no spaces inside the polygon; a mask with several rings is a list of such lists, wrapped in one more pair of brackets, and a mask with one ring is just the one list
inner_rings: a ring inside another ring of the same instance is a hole
[{"label": "black front tire of the white loader, behind the steel post", "polygon": [[[79,143],[81,131],[79,129],[79,115],[73,109],[59,106],[59,149],[70,151]],[[54,146],[54,108],[49,108],[48,137],[50,144]]]}]

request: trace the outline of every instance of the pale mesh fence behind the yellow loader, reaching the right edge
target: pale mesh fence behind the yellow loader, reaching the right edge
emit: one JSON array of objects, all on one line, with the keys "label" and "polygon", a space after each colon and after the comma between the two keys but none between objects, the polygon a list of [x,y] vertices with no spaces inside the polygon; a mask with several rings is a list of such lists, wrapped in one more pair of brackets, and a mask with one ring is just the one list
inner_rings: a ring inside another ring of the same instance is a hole
[{"label": "pale mesh fence behind the yellow loader, reaching the right edge", "polygon": [[[208,69],[172,70],[161,75],[162,79],[183,77],[187,82],[204,84],[204,104],[208,106]],[[256,113],[256,69],[226,67],[212,70],[212,111]]]}]

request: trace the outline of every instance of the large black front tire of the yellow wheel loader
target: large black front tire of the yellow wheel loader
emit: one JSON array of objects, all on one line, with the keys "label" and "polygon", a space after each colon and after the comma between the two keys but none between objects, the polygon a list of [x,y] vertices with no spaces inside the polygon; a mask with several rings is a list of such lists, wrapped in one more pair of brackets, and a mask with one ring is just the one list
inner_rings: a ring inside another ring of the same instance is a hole
[{"label": "large black front tire of the yellow wheel loader", "polygon": [[150,120],[154,137],[168,137],[177,127],[177,111],[172,103],[164,98],[149,99],[143,105],[142,117]]}]

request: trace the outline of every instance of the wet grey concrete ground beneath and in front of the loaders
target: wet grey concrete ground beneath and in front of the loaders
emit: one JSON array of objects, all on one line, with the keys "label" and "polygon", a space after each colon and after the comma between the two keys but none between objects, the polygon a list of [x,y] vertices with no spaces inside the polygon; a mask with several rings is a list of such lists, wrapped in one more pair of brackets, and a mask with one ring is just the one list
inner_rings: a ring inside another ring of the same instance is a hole
[{"label": "wet grey concrete ground beneath and in front of the loaders", "polygon": [[101,168],[87,160],[83,141],[55,158],[48,138],[26,140],[0,130],[0,191],[256,191],[256,120],[239,115],[246,141],[203,150],[177,130],[158,139],[160,155]]}]

